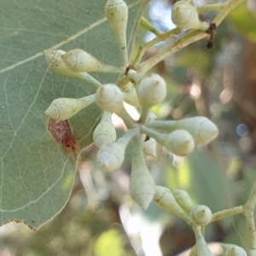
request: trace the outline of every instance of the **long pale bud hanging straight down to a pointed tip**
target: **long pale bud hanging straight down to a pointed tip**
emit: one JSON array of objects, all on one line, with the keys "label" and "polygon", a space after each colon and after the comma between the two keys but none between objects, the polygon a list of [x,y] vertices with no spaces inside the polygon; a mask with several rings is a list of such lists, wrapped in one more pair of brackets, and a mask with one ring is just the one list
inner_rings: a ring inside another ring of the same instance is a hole
[{"label": "long pale bud hanging straight down to a pointed tip", "polygon": [[133,147],[129,189],[132,199],[146,210],[153,199],[155,185],[145,163],[141,139]]}]

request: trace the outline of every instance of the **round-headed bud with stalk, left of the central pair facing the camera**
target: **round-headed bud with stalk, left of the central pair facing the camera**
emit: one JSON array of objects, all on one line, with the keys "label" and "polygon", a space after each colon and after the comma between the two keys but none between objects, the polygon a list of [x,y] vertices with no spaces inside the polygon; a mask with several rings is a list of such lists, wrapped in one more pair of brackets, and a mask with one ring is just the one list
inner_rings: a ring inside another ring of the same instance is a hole
[{"label": "round-headed bud with stalk, left of the central pair facing the camera", "polygon": [[102,110],[116,113],[128,128],[136,126],[135,121],[131,119],[126,112],[123,102],[123,93],[115,84],[104,84],[96,90],[96,104]]}]

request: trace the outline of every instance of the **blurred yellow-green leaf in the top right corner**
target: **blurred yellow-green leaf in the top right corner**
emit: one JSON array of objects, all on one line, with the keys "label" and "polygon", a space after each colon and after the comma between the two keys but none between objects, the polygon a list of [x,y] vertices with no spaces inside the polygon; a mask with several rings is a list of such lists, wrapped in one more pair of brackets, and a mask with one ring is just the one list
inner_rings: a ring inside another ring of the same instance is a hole
[{"label": "blurred yellow-green leaf in the top right corner", "polygon": [[249,41],[256,43],[256,18],[247,9],[247,5],[242,4],[228,15],[230,25]]}]

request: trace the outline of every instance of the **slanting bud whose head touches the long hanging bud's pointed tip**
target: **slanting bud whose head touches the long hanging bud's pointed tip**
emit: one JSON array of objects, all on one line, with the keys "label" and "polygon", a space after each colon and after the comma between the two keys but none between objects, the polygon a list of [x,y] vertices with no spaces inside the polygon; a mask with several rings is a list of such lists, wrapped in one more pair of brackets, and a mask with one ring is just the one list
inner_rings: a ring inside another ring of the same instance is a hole
[{"label": "slanting bud whose head touches the long hanging bud's pointed tip", "polygon": [[159,207],[164,208],[168,212],[172,212],[180,218],[183,218],[187,223],[191,223],[189,215],[177,204],[172,192],[162,186],[156,186],[154,194],[154,203]]}]

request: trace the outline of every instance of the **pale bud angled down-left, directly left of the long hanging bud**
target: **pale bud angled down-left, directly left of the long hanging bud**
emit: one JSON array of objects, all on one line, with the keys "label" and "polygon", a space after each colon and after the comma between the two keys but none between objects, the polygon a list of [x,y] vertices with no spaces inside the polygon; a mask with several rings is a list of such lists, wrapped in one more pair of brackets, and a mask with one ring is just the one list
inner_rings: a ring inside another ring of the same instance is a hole
[{"label": "pale bud angled down-left, directly left of the long hanging bud", "polygon": [[97,161],[102,170],[111,172],[121,166],[125,158],[125,148],[137,133],[137,129],[129,130],[116,142],[102,145],[97,153]]}]

